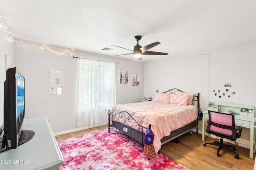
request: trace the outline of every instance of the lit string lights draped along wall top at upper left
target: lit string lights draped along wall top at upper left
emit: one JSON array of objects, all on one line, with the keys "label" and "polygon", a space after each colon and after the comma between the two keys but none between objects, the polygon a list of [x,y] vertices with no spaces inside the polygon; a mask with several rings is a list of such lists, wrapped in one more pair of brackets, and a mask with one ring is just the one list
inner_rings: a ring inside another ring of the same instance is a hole
[{"label": "lit string lights draped along wall top at upper left", "polygon": [[0,29],[3,29],[6,31],[6,34],[7,34],[7,37],[8,37],[8,41],[10,42],[16,42],[16,43],[22,43],[22,46],[23,47],[34,47],[36,49],[47,49],[48,51],[52,52],[52,53],[55,53],[55,54],[58,54],[58,55],[64,55],[64,54],[69,54],[71,56],[74,56],[74,50],[73,49],[67,49],[67,50],[64,50],[64,51],[55,51],[53,49],[51,49],[50,47],[48,47],[47,45],[26,45],[24,44],[22,41],[17,41],[15,40],[13,37],[12,37],[12,33],[11,31],[8,29],[6,23],[4,22],[4,18],[2,16],[2,14],[0,13]]}]

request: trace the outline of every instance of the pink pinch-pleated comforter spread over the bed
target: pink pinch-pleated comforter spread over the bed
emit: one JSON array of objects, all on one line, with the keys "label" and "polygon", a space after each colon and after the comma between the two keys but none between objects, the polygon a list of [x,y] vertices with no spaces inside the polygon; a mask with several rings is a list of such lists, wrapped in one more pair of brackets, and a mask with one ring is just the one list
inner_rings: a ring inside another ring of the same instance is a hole
[{"label": "pink pinch-pleated comforter spread over the bed", "polygon": [[151,124],[151,130],[154,133],[153,145],[156,152],[161,148],[160,140],[164,136],[169,136],[171,131],[197,119],[197,108],[193,105],[180,106],[153,101],[118,104],[112,108],[109,114],[120,111],[127,111],[144,127]]}]

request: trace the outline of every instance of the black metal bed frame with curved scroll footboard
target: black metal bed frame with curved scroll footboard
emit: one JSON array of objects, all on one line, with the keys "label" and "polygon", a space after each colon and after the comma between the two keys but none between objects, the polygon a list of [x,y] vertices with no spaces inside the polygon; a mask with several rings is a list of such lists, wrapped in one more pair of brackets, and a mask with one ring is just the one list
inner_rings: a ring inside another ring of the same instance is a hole
[{"label": "black metal bed frame with curved scroll footboard", "polygon": [[[173,88],[164,93],[174,93],[175,91],[183,92],[177,88]],[[199,117],[200,115],[199,93],[197,94],[197,96],[193,97],[192,105],[197,107],[198,117]],[[190,135],[191,135],[192,129],[196,129],[196,133],[198,133],[198,117],[195,121],[179,129],[172,131],[169,136],[163,137],[161,139],[161,145],[171,141],[172,139],[179,137],[180,135],[183,135],[184,133],[190,132]],[[127,125],[128,122],[133,122],[134,126],[132,127],[128,126]],[[149,127],[150,127],[150,124],[149,124]],[[115,114],[108,114],[108,133],[110,133],[110,129],[126,137],[130,141],[134,142],[136,145],[142,148],[144,147],[144,136],[145,136],[144,131],[146,131],[147,128],[140,125],[127,111],[121,111]]]}]

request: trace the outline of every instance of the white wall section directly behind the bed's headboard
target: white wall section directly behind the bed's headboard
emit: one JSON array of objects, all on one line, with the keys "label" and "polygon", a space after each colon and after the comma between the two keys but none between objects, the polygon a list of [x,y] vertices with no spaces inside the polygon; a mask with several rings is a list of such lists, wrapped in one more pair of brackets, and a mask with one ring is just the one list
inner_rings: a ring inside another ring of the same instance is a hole
[{"label": "white wall section directly behind the bed's headboard", "polygon": [[178,88],[200,93],[202,109],[207,109],[209,86],[209,52],[166,57],[144,63],[144,96]]}]

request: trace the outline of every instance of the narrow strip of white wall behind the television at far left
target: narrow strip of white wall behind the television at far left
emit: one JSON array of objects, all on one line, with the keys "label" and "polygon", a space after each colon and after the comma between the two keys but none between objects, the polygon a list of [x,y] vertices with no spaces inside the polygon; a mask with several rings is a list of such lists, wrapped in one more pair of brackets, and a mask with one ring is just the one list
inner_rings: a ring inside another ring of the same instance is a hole
[{"label": "narrow strip of white wall behind the television at far left", "polygon": [[14,65],[14,45],[8,41],[7,33],[0,28],[0,130],[4,125],[4,81],[6,73],[6,55]]}]

